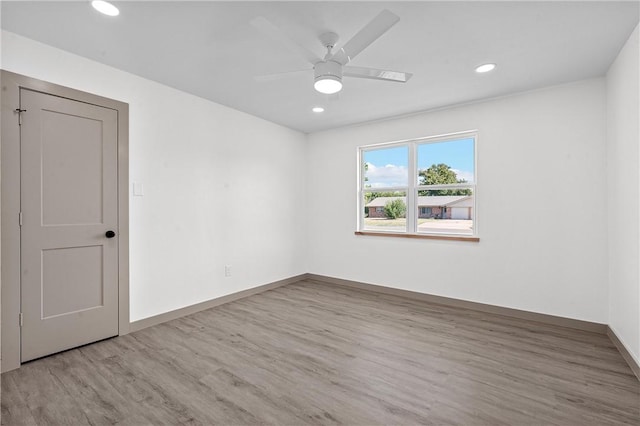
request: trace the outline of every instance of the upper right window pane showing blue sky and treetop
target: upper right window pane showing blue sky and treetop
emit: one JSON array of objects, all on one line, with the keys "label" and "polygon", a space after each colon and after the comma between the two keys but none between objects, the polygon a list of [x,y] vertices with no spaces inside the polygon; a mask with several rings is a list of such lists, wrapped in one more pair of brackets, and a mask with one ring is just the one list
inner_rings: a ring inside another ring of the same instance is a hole
[{"label": "upper right window pane showing blue sky and treetop", "polygon": [[474,181],[474,139],[418,145],[418,185]]}]

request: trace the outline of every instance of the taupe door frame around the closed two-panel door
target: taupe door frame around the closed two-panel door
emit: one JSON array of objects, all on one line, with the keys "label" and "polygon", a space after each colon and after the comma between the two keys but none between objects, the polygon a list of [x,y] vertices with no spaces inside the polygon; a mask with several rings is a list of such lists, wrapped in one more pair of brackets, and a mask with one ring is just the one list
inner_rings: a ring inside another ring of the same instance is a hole
[{"label": "taupe door frame around the closed two-panel door", "polygon": [[[0,70],[0,259],[2,372],[20,368],[20,89],[60,96],[118,113],[118,334],[129,332],[129,105]],[[28,111],[27,111],[28,113]]]}]

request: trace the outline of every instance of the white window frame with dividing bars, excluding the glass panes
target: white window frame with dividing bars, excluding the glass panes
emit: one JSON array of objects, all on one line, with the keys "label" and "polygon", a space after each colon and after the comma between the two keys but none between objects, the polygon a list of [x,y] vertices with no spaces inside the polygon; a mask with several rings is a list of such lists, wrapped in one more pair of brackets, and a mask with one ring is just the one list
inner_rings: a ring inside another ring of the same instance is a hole
[{"label": "white window frame with dividing bars, excluding the glass panes", "polygon": [[[418,184],[418,146],[432,143],[442,143],[456,141],[460,139],[473,139],[473,182],[472,183],[456,183],[443,185],[419,185]],[[364,156],[368,151],[375,151],[386,148],[395,148],[406,146],[408,148],[408,165],[407,165],[407,186],[394,186],[384,188],[366,188],[365,186],[365,167]],[[466,130],[462,132],[447,133],[435,136],[426,136],[414,139],[406,139],[394,142],[384,142],[371,145],[362,145],[357,149],[357,230],[356,235],[382,235],[382,236],[399,236],[409,238],[428,238],[428,239],[453,239],[453,240],[469,240],[479,241],[478,237],[478,131]],[[423,190],[438,189],[471,189],[473,194],[472,220],[473,227],[471,234],[457,234],[451,232],[419,232],[418,219],[420,216],[420,206],[417,204],[418,192]],[[365,194],[368,192],[404,192],[407,199],[407,214],[405,231],[388,231],[378,229],[366,229],[365,221]]]}]

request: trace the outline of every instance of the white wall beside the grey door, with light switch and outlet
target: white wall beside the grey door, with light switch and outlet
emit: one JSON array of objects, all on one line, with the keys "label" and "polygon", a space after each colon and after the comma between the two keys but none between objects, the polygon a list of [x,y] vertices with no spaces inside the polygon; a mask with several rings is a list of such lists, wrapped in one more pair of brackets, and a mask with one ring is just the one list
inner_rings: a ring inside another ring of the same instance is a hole
[{"label": "white wall beside the grey door, with light switch and outlet", "polygon": [[2,64],[129,103],[132,321],[307,271],[304,134],[8,32]]}]

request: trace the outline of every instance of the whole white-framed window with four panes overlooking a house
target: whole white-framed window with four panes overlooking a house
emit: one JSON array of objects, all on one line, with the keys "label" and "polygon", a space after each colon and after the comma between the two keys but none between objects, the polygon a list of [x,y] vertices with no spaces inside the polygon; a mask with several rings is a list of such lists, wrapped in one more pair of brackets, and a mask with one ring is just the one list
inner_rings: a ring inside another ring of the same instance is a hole
[{"label": "whole white-framed window with four panes overlooking a house", "polygon": [[359,149],[358,231],[475,236],[475,133]]}]

